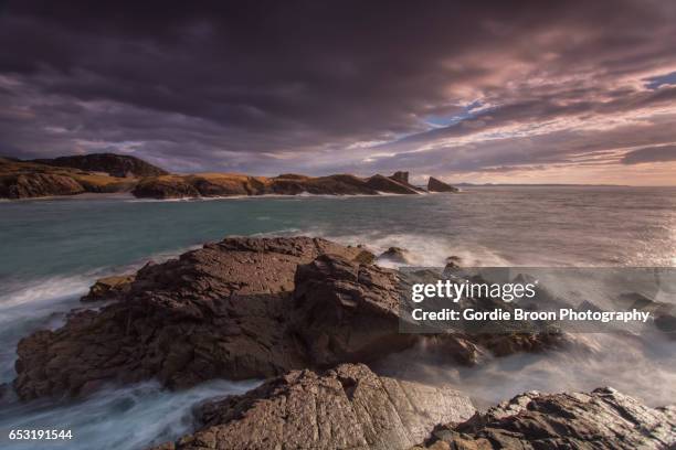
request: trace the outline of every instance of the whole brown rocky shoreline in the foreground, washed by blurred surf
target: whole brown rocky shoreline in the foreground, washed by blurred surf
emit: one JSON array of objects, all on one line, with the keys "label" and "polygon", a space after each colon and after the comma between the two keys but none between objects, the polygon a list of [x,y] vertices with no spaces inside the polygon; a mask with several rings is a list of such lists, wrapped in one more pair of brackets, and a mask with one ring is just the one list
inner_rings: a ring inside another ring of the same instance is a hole
[{"label": "whole brown rocky shoreline in the foreground, washed by blurred surf", "polygon": [[[373,373],[368,364],[422,339],[399,332],[406,281],[377,260],[361,246],[321,238],[230,237],[149,262],[95,283],[83,302],[96,310],[73,311],[62,328],[21,340],[12,387],[30,400],[147,379],[170,389],[212,378],[267,379],[203,405],[193,435],[158,449],[668,448],[676,441],[673,407],[647,408],[611,389],[530,393],[477,413],[447,386]],[[463,365],[571,345],[554,333],[424,339]]]}]

